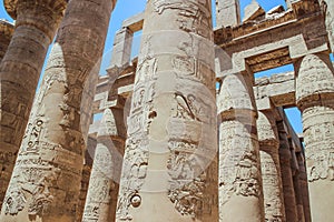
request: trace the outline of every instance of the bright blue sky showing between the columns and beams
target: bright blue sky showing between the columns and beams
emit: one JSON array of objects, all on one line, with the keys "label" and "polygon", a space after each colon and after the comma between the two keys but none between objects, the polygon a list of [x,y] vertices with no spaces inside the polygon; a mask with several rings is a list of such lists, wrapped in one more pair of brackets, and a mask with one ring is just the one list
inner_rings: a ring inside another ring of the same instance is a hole
[{"label": "bright blue sky showing between the columns and beams", "polygon": [[[242,8],[242,17],[244,14],[244,8],[248,3],[250,3],[252,0],[240,0],[240,8]],[[284,0],[257,0],[257,2],[267,11],[278,4],[282,4],[285,7],[285,1]],[[102,65],[101,65],[101,73],[105,73],[105,70],[108,68],[110,58],[111,58],[111,48],[114,43],[114,36],[117,30],[121,28],[121,22],[141,11],[145,9],[145,3],[146,0],[118,0],[117,6],[112,12],[111,16],[111,21],[110,21],[110,27],[107,36],[107,42],[106,42],[106,48],[105,48],[105,56],[102,60]],[[215,6],[215,0],[213,0],[213,7]],[[3,0],[1,0],[1,6],[0,6],[0,18],[1,19],[7,19],[9,21],[12,21],[12,19],[7,14],[4,8],[3,8]],[[136,34],[134,38],[134,56],[136,52],[138,52],[140,44],[140,36]],[[332,56],[333,59],[333,56]],[[292,65],[285,65],[275,70],[268,70],[265,72],[256,73],[256,77],[263,77],[263,75],[271,75],[272,73],[281,73],[281,72],[286,72],[286,71],[293,71]],[[301,124],[301,113],[297,111],[297,109],[288,109],[286,110],[286,113],[292,121],[295,130],[297,132],[302,132],[302,124]]]}]

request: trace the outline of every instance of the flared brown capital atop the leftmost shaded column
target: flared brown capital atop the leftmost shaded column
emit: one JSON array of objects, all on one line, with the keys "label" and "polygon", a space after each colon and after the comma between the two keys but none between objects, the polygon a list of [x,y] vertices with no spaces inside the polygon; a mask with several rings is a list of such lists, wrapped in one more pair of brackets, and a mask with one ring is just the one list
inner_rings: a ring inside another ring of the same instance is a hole
[{"label": "flared brown capital atop the leftmost shaded column", "polygon": [[[112,0],[112,2],[116,2],[116,0]],[[40,6],[49,7],[53,10],[63,11],[68,3],[68,0],[53,0],[53,1],[49,1],[49,0],[3,0],[4,8],[12,19],[17,19],[17,16],[18,16],[17,10],[18,10],[19,3],[28,3],[28,4],[29,3],[31,3],[31,4],[39,3]]]}]

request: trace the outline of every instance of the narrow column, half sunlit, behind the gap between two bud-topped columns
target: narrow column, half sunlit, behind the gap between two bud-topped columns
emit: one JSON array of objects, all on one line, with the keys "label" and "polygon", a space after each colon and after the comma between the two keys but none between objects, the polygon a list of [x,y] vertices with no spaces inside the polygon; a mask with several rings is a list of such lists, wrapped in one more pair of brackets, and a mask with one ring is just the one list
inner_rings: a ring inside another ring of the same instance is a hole
[{"label": "narrow column, half sunlit, behind the gap between two bud-topped columns", "polygon": [[259,157],[263,179],[265,220],[283,222],[285,209],[279,165],[279,139],[275,115],[271,111],[258,112]]}]

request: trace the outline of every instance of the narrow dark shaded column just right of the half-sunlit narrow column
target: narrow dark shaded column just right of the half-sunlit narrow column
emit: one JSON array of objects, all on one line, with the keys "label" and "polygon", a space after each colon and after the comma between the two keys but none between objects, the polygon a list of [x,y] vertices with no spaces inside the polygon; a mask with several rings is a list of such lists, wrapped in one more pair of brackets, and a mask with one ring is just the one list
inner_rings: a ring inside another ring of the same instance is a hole
[{"label": "narrow dark shaded column just right of the half-sunlit narrow column", "polygon": [[286,221],[296,222],[298,216],[291,165],[292,155],[289,151],[289,143],[284,129],[284,123],[282,121],[277,122],[277,129],[279,135],[279,164],[284,193],[285,216]]}]

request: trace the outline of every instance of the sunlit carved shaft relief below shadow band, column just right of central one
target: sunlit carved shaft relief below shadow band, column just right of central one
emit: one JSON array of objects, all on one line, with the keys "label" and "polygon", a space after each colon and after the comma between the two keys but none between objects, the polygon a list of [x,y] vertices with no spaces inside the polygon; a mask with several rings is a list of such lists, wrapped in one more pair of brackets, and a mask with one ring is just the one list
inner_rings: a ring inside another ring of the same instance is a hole
[{"label": "sunlit carved shaft relief below shadow band, column just right of central one", "polygon": [[[256,153],[257,144],[255,141],[247,139],[247,130],[240,128],[237,121],[223,122],[220,125],[219,139],[224,157],[224,168],[222,168],[219,186],[222,188],[222,204],[227,202],[233,194],[243,196],[259,196],[261,181],[259,170],[257,167],[258,154]],[[237,137],[234,133],[237,132]],[[240,140],[247,144],[238,144]],[[234,145],[229,150],[229,145]],[[250,147],[252,149],[247,148]]]}]

